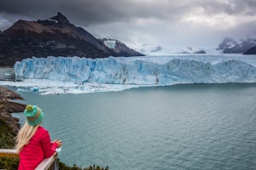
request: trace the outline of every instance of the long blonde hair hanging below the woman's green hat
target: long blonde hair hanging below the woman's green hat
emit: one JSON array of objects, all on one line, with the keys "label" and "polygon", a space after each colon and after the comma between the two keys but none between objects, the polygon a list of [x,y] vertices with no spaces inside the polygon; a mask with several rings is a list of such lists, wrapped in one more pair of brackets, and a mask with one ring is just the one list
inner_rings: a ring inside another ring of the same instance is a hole
[{"label": "long blonde hair hanging below the woman's green hat", "polygon": [[24,145],[28,144],[32,136],[38,130],[39,124],[36,126],[31,126],[27,122],[20,128],[20,131],[16,137],[16,147],[15,149],[20,152]]}]

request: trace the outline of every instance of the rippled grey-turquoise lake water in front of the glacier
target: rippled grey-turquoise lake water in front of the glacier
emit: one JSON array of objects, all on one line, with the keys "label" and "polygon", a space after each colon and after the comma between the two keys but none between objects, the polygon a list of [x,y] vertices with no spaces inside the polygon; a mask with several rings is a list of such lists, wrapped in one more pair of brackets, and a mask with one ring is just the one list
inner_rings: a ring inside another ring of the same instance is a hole
[{"label": "rippled grey-turquoise lake water in front of the glacier", "polygon": [[20,94],[44,110],[43,126],[62,139],[59,157],[69,165],[256,169],[255,83]]}]

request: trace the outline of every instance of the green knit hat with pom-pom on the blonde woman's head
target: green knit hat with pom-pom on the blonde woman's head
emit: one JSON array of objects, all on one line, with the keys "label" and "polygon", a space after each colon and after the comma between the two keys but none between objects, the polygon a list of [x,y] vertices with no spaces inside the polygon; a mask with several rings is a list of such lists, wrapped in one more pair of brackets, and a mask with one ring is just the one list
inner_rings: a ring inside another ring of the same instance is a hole
[{"label": "green knit hat with pom-pom on the blonde woman's head", "polygon": [[24,114],[27,123],[31,126],[38,125],[44,117],[44,112],[37,105],[26,105]]}]

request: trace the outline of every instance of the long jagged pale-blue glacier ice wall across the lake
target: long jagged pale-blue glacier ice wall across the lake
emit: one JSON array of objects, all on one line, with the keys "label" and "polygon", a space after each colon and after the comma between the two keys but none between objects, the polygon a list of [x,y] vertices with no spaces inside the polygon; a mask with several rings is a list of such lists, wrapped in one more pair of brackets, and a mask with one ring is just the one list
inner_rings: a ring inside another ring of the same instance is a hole
[{"label": "long jagged pale-blue glacier ice wall across the lake", "polygon": [[137,85],[256,82],[256,56],[33,57],[16,62],[15,75],[65,82]]}]

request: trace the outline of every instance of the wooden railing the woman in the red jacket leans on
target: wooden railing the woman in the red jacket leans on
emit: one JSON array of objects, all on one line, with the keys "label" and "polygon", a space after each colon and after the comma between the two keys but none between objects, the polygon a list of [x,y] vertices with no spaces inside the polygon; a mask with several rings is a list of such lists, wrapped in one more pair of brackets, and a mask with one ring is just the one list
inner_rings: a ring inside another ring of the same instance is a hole
[{"label": "wooden railing the woman in the red jacket leans on", "polygon": [[[45,158],[43,161],[41,161],[36,170],[58,170],[59,167],[56,161],[57,155],[57,152],[55,152],[53,156]],[[0,157],[19,157],[19,154],[16,150],[0,149]]]}]

